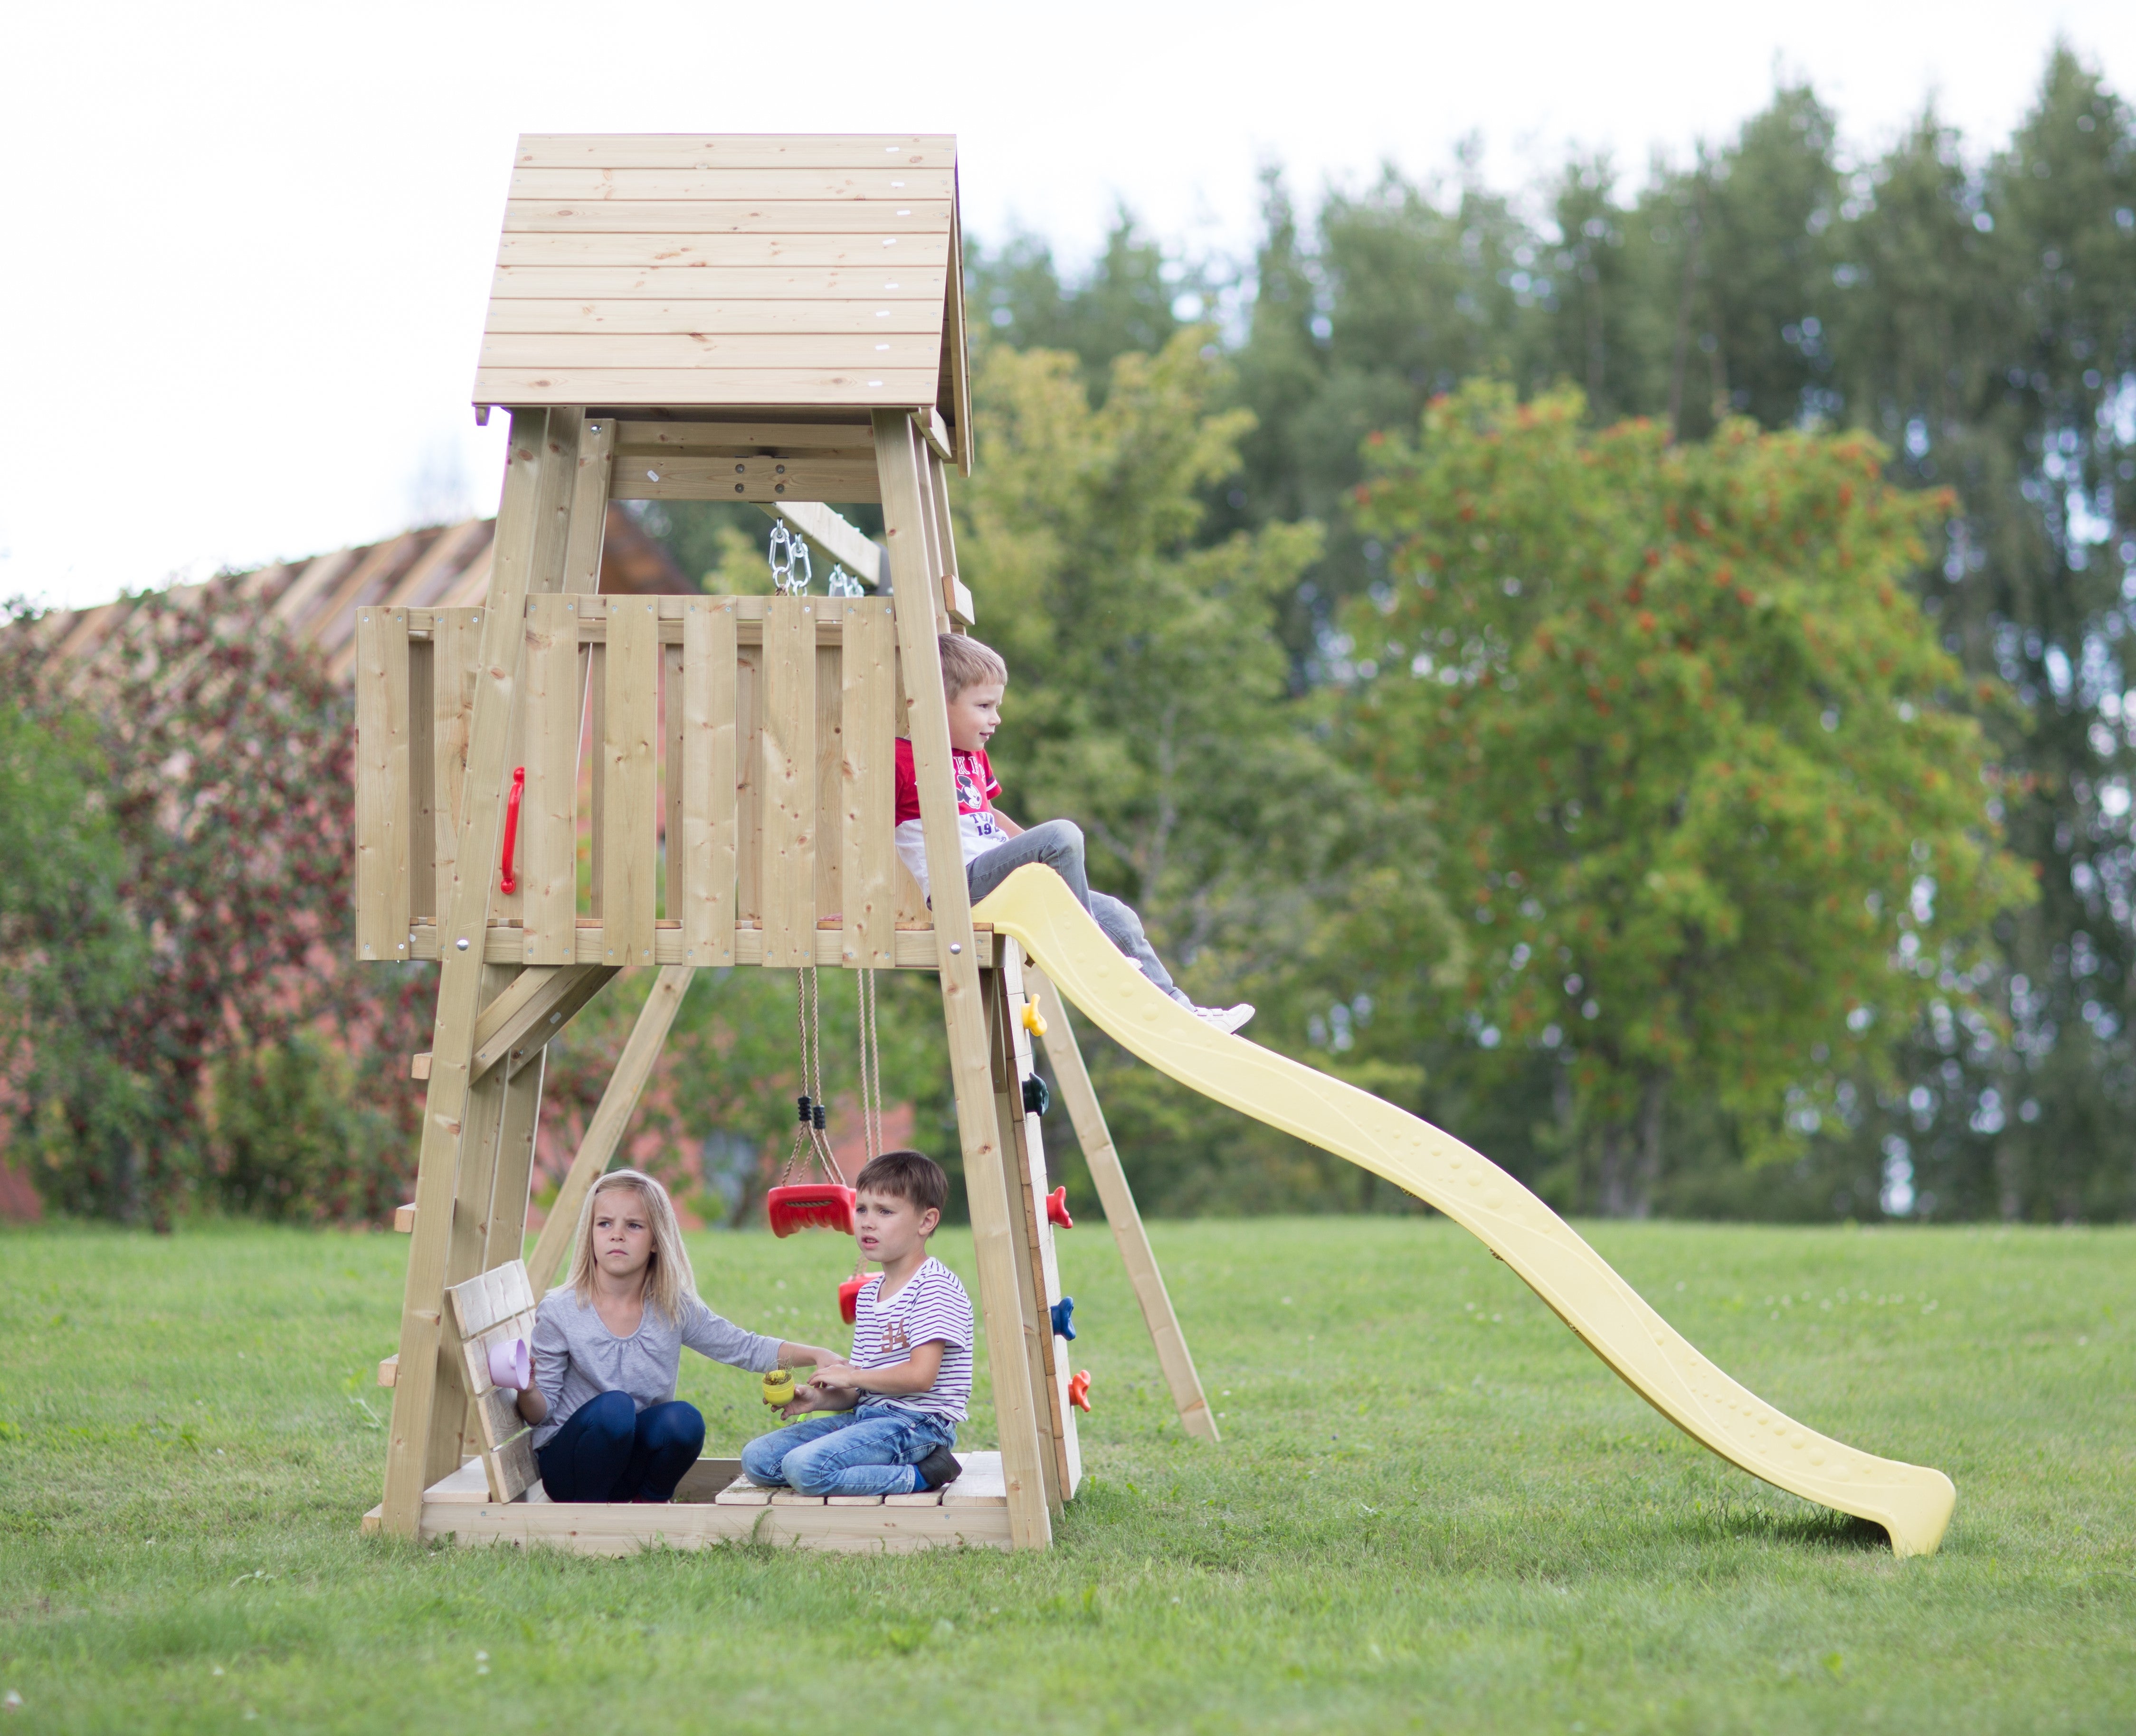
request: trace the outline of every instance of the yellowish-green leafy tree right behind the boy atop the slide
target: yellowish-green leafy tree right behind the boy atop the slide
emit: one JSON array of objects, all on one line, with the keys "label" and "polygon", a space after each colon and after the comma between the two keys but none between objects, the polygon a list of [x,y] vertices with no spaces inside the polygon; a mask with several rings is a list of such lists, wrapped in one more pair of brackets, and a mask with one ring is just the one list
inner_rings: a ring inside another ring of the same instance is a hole
[{"label": "yellowish-green leafy tree right behind the boy atop the slide", "polygon": [[[1369,993],[1337,946],[1363,888],[1397,897],[1393,882],[1435,908],[1429,839],[1290,698],[1275,606],[1318,527],[1200,540],[1207,491],[1250,429],[1218,408],[1224,386],[1200,331],[1119,357],[1100,404],[1074,357],[993,348],[957,547],[978,632],[1010,666],[1002,805],[1025,824],[1077,820],[1091,882],[1136,905],[1188,991],[1254,999],[1256,1036],[1305,1048],[1337,993]],[[1358,1198],[1320,1153],[1213,1115],[1106,1044],[1094,1070],[1156,1209]]]}]

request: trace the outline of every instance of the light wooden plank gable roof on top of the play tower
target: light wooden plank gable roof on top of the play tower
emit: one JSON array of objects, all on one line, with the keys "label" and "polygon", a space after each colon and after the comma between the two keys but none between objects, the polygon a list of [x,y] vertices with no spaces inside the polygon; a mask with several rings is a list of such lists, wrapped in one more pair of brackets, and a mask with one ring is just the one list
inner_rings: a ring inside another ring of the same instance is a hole
[{"label": "light wooden plank gable roof on top of the play tower", "polygon": [[474,404],[933,408],[968,470],[955,137],[523,135]]}]

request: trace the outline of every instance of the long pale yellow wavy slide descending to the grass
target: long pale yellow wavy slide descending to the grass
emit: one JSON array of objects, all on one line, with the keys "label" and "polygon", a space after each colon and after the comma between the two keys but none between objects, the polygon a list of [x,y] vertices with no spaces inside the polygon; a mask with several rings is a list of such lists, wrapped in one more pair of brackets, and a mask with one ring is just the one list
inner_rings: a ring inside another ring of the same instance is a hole
[{"label": "long pale yellow wavy slide descending to the grass", "polygon": [[1053,869],[1021,867],[985,903],[1113,1042],[1181,1085],[1386,1177],[1497,1253],[1649,1405],[1685,1435],[1805,1501],[1873,1520],[1895,1554],[1931,1554],[1957,1488],[1878,1458],[1764,1403],[1700,1356],[1611,1264],[1489,1157],[1369,1091],[1203,1025],[1158,993]]}]

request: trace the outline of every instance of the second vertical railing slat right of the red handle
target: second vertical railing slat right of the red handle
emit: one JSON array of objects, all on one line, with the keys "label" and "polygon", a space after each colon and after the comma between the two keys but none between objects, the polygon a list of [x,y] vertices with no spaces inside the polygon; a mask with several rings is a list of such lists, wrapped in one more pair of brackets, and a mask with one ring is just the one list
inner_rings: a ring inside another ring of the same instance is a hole
[{"label": "second vertical railing slat right of the red handle", "polygon": [[651,598],[609,598],[609,673],[600,933],[607,963],[654,961],[654,754],[658,739],[660,621]]}]

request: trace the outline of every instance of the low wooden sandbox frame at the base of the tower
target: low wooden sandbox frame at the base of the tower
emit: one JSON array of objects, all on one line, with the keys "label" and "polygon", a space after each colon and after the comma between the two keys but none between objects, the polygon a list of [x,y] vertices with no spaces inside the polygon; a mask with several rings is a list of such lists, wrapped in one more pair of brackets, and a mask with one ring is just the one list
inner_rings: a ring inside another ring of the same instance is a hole
[{"label": "low wooden sandbox frame at the base of the tower", "polygon": [[[470,1458],[423,1490],[425,1542],[547,1544],[572,1554],[643,1548],[778,1544],[901,1554],[918,1548],[1008,1548],[1002,1454],[963,1452],[963,1475],[927,1495],[797,1495],[760,1488],[739,1458],[701,1458],[666,1505],[551,1501],[540,1484],[523,1501],[491,1501],[483,1465]],[[384,1508],[363,1516],[378,1531]]]}]

